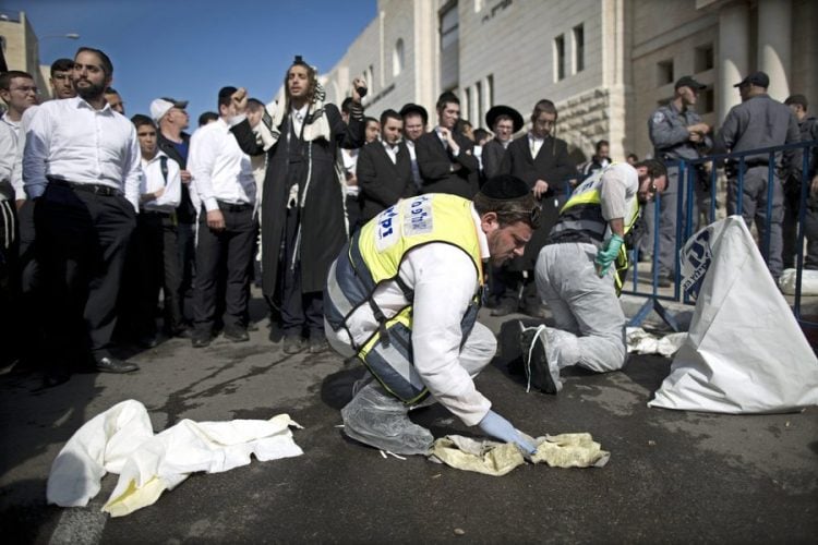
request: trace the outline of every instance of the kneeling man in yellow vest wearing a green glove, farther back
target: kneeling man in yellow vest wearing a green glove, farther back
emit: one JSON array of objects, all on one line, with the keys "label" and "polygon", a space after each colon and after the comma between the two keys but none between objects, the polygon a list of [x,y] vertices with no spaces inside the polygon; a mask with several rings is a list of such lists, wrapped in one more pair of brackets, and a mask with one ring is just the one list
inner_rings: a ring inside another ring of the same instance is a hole
[{"label": "kneeling man in yellow vest wearing a green glove, farther back", "polygon": [[625,365],[625,314],[618,294],[627,270],[625,238],[639,204],[667,186],[657,159],[598,170],[572,194],[537,258],[537,290],[555,327],[522,328],[530,384],[562,389],[560,371],[579,365],[604,373]]}]

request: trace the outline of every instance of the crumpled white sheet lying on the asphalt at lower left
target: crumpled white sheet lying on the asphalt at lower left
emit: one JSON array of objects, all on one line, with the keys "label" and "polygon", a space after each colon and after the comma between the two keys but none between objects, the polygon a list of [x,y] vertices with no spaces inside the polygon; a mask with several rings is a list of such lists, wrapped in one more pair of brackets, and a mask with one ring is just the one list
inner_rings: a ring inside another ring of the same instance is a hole
[{"label": "crumpled white sheet lying on the asphalt at lower left", "polygon": [[85,423],[57,455],[46,497],[62,507],[85,506],[99,493],[106,472],[119,481],[103,507],[120,517],[154,504],[191,473],[219,473],[250,463],[303,453],[287,414],[270,420],[183,420],[154,435],[145,407],[122,401]]}]

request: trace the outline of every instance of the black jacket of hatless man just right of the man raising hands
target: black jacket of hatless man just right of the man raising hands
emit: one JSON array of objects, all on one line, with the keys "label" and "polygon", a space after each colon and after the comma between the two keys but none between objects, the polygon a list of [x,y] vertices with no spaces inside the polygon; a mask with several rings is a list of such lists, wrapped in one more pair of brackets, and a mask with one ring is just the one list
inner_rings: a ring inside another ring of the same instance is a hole
[{"label": "black jacket of hatless man just right of the man raising hands", "polygon": [[416,194],[409,149],[398,145],[397,162],[392,162],[380,140],[361,148],[356,167],[361,189],[361,219],[365,222],[401,198]]}]

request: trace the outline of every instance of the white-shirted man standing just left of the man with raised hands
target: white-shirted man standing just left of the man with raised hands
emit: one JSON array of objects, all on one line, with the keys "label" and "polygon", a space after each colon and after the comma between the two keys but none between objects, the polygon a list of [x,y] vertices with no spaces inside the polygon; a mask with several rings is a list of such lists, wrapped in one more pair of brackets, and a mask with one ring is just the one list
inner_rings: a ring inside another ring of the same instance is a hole
[{"label": "white-shirted man standing just left of the man with raised hands", "polygon": [[225,338],[233,342],[250,339],[246,314],[257,228],[253,215],[256,190],[250,157],[241,150],[228,125],[236,116],[231,96],[237,90],[219,90],[219,120],[199,129],[191,137],[188,169],[203,208],[199,215],[193,287],[194,348],[206,347],[213,339],[221,263],[227,264]]}]

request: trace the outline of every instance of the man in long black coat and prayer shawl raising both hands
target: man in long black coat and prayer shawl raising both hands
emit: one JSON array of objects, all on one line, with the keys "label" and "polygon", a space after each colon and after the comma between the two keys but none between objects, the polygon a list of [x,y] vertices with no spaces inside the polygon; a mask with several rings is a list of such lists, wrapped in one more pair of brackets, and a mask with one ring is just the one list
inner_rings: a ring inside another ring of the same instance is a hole
[{"label": "man in long black coat and prayer shawl raising both hands", "polygon": [[[349,122],[325,104],[317,73],[298,56],[285,76],[284,104],[269,104],[256,128],[244,116],[246,92],[233,97],[231,121],[239,146],[248,155],[267,154],[262,218],[262,289],[278,300],[280,289],[284,351],[305,346],[326,350],[323,289],[329,265],[347,242],[344,181],[338,149],[363,145],[363,80],[352,82]],[[304,339],[306,335],[306,339]],[[305,342],[306,341],[306,342]],[[308,344],[309,342],[309,344]]]}]

